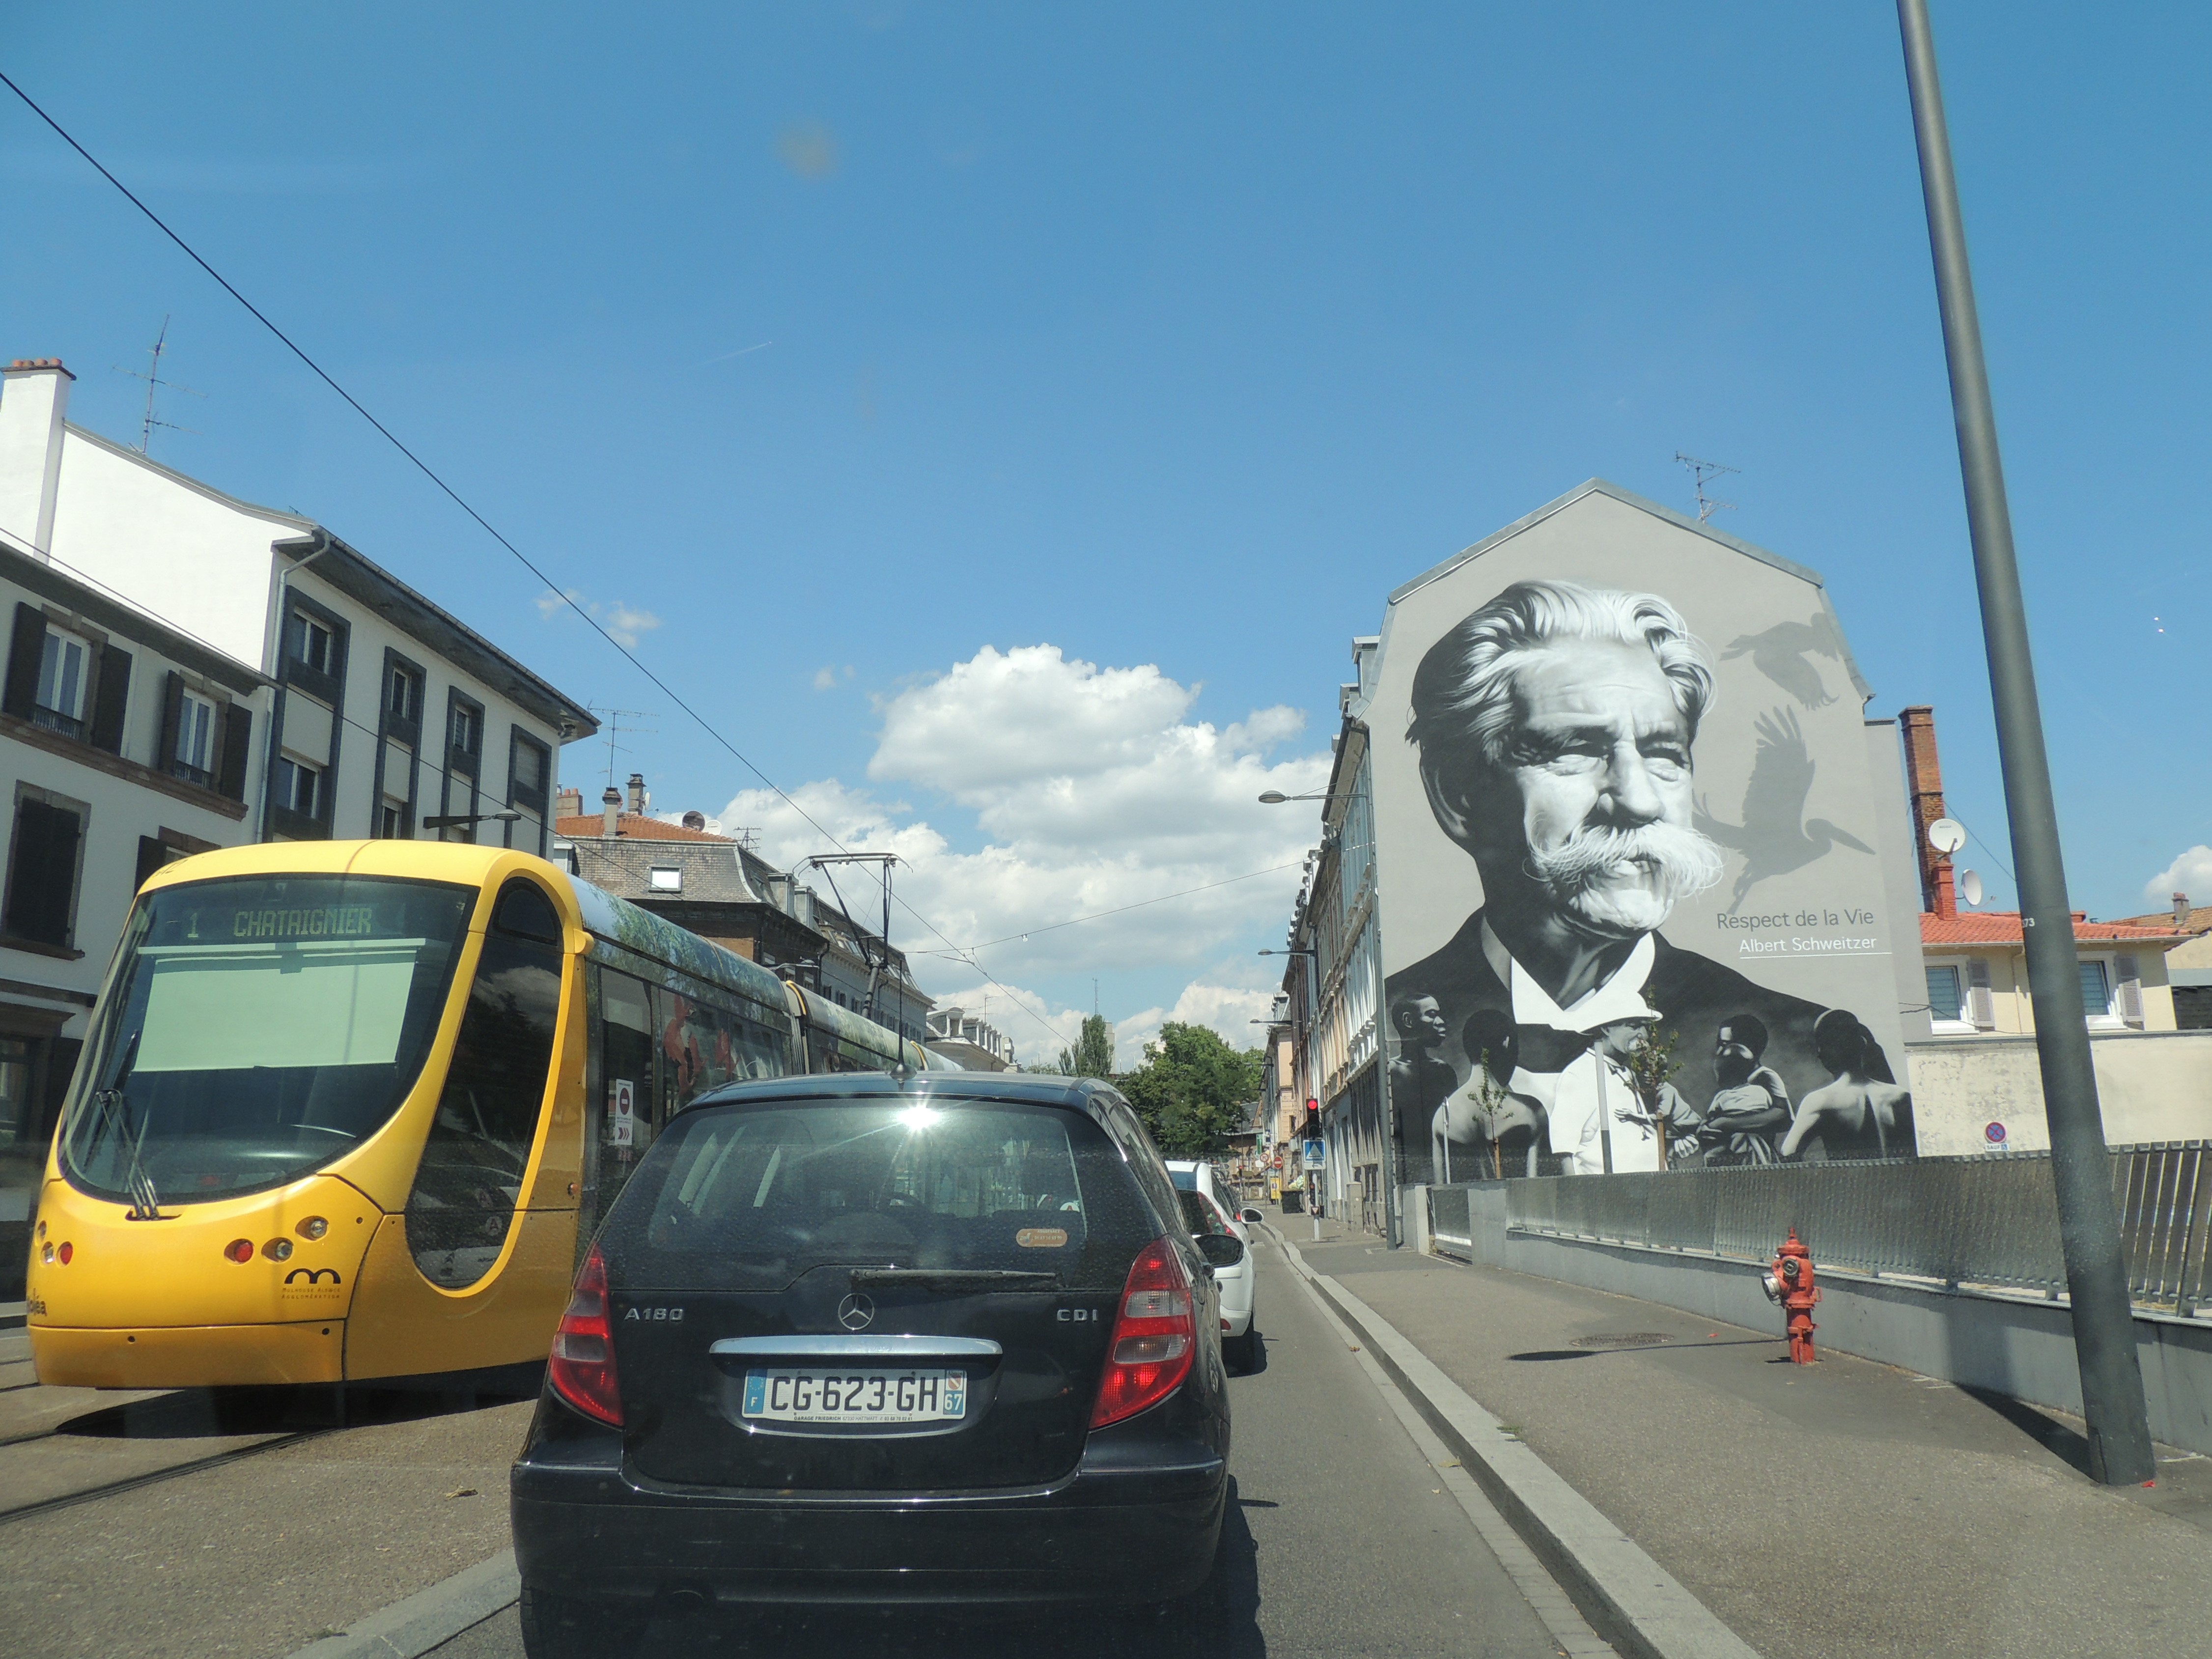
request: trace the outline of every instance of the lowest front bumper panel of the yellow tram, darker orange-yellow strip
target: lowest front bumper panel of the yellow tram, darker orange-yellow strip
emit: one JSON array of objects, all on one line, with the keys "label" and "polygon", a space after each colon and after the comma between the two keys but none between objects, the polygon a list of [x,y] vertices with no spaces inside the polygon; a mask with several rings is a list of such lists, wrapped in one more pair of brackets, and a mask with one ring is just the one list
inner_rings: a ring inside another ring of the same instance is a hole
[{"label": "lowest front bumper panel of the yellow tram, darker orange-yellow strip", "polygon": [[73,1329],[31,1325],[40,1383],[77,1389],[219,1389],[341,1383],[345,1321],[301,1325],[155,1325]]}]

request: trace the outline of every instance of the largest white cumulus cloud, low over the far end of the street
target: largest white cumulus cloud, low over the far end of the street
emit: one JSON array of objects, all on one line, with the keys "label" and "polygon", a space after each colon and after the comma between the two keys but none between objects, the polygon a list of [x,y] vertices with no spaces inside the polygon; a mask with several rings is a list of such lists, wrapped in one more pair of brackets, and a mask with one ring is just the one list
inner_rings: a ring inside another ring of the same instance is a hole
[{"label": "largest white cumulus cloud, low over the far end of the street", "polygon": [[[1164,1020],[1212,1024],[1250,1046],[1248,1022],[1267,1011],[1272,973],[1259,960],[1243,969],[1243,951],[1281,929],[1316,838],[1312,807],[1265,807],[1259,794],[1323,785],[1329,757],[1270,759],[1303,734],[1294,708],[1217,728],[1190,719],[1197,695],[1155,666],[1102,668],[1057,646],[984,646],[878,699],[883,730],[865,787],[821,779],[792,790],[792,803],[845,847],[907,860],[896,891],[953,945],[975,949],[1009,991],[894,914],[891,933],[916,975],[940,1000],[1006,1031],[1024,1060],[1073,1044],[1088,1013],[1024,987],[1062,978],[1073,991],[1102,971],[1157,984],[1159,1006],[1117,1022],[1121,1064],[1137,1062]],[[945,830],[898,799],[898,787],[945,794]],[[830,841],[792,803],[748,790],[721,816],[757,825],[761,852],[794,865]],[[1183,896],[1148,902],[1168,894]],[[1053,927],[1097,911],[1117,914]]]}]

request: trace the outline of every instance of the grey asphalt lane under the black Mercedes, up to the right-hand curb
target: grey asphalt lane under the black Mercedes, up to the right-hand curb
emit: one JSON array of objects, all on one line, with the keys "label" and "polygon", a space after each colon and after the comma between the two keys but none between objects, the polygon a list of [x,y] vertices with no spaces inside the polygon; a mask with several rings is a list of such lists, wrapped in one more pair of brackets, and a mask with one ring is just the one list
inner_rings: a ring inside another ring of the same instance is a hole
[{"label": "grey asphalt lane under the black Mercedes, up to the right-hand curb", "polygon": [[[1234,1504],[1214,1582],[1188,1619],[1051,1617],[956,1626],[933,1619],[787,1615],[717,1628],[655,1626],[641,1652],[821,1655],[914,1659],[1252,1659],[1256,1655],[1451,1655],[1451,1659],[1555,1659],[1555,1624],[1573,1615],[1548,1579],[1515,1582],[1363,1369],[1343,1329],[1292,1279],[1281,1250],[1261,1239],[1259,1327],[1265,1365],[1232,1380],[1237,1422]],[[1431,1462],[1431,1458],[1436,1462]],[[1455,1467],[1451,1471],[1455,1475]],[[1515,1553],[1511,1544],[1504,1546]],[[1528,1593],[1524,1593],[1528,1586]],[[1599,1650],[1584,1646],[1577,1652]],[[522,1632],[509,1608],[434,1650],[438,1659],[518,1659]]]}]

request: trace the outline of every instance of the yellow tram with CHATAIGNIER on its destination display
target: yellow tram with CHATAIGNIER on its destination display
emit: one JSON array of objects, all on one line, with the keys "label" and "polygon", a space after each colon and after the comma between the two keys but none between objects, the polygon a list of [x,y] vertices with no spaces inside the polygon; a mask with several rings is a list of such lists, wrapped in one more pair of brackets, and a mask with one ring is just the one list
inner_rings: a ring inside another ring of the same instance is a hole
[{"label": "yellow tram with CHATAIGNIER on its destination display", "polygon": [[186,858],[139,891],[46,1159],[38,1378],[538,1363],[584,1243],[692,1095],[947,1064],[529,854]]}]

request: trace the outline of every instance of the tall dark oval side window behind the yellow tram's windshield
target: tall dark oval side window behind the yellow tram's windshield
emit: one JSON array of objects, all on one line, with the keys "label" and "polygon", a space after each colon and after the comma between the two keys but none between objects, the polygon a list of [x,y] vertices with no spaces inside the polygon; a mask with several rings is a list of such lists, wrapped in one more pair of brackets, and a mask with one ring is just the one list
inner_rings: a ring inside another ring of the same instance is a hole
[{"label": "tall dark oval side window behind the yellow tram's windshield", "polygon": [[447,1290],[491,1270],[522,1197],[560,1020],[562,951],[533,938],[555,931],[551,916],[526,880],[500,894],[407,1194],[407,1248]]}]

